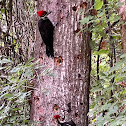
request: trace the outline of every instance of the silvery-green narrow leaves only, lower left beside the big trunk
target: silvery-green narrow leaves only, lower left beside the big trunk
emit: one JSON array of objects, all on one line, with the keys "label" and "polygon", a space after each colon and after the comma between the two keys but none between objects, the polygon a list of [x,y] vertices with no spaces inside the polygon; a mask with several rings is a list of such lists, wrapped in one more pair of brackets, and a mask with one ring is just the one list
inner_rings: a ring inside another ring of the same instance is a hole
[{"label": "silvery-green narrow leaves only, lower left beside the big trunk", "polygon": [[[32,90],[27,91],[34,79],[36,63],[32,59],[12,68],[13,62],[0,60],[0,125],[26,125],[29,120],[28,98]],[[4,64],[4,66],[2,66]]]}]

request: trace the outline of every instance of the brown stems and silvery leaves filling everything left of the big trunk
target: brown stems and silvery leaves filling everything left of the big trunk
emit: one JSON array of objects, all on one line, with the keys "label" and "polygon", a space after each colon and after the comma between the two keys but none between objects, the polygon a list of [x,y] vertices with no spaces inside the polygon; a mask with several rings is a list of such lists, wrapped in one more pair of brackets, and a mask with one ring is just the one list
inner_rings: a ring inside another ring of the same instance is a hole
[{"label": "brown stems and silvery leaves filling everything left of the big trunk", "polygon": [[39,68],[30,59],[35,42],[35,1],[0,0],[0,8],[0,125],[27,125],[28,99],[34,89],[34,71]]}]

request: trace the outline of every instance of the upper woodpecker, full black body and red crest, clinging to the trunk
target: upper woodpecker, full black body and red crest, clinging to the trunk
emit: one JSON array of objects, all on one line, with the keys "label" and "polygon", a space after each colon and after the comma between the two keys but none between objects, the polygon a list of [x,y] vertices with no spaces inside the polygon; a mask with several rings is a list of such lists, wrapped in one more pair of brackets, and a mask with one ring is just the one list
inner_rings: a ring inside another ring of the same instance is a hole
[{"label": "upper woodpecker, full black body and red crest, clinging to the trunk", "polygon": [[54,26],[51,21],[48,19],[47,15],[51,12],[47,13],[46,11],[38,11],[38,16],[41,19],[38,21],[38,28],[41,34],[42,40],[46,45],[46,54],[47,56],[54,57],[54,49],[53,49],[53,31]]}]

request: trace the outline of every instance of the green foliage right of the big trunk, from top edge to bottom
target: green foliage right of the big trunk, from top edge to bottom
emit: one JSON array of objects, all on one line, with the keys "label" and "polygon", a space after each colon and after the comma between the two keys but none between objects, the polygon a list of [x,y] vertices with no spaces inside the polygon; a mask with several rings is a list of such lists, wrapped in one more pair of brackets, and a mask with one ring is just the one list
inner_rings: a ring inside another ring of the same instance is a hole
[{"label": "green foliage right of the big trunk, from top edge to bottom", "polygon": [[[92,32],[90,126],[126,125],[126,54],[122,55],[117,0],[95,0],[80,20]],[[97,13],[91,14],[95,9]],[[90,25],[90,27],[89,27]]]}]

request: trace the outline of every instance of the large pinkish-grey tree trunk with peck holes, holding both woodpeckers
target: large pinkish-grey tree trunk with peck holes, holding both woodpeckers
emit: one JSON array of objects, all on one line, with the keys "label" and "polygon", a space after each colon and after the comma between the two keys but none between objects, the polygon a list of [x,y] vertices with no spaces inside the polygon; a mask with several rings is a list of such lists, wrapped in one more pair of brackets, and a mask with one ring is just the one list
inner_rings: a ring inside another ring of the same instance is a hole
[{"label": "large pinkish-grey tree trunk with peck holes, holding both woodpeckers", "polygon": [[[77,126],[87,126],[89,111],[90,87],[90,33],[75,35],[81,28],[79,20],[83,17],[72,7],[80,5],[80,1],[38,0],[38,11],[52,11],[49,19],[55,25],[54,55],[55,60],[48,58],[45,44],[42,44],[37,27],[35,57],[41,58],[40,64],[53,68],[56,76],[41,76],[35,81],[32,95],[31,120],[40,121],[39,126],[56,126],[54,115],[65,115],[65,121],[71,119]],[[39,18],[38,18],[39,20]],[[60,56],[63,62],[57,62]],[[55,62],[54,62],[55,61]]]}]

